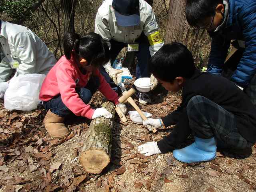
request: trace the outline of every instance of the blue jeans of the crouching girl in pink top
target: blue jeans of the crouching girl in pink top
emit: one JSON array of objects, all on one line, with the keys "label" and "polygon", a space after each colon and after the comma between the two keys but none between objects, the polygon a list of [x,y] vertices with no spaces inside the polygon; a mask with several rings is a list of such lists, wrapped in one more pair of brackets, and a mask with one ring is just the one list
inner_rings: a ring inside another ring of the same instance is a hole
[{"label": "blue jeans of the crouching girl in pink top", "polygon": [[[92,76],[88,81],[86,87],[76,88],[76,92],[79,97],[83,100],[85,104],[88,104],[92,98],[92,95],[98,90],[100,86],[100,80],[96,76]],[[62,102],[60,94],[52,98],[47,102],[43,102],[44,108],[48,111],[51,110],[52,113],[65,117],[72,114],[72,111]]]}]

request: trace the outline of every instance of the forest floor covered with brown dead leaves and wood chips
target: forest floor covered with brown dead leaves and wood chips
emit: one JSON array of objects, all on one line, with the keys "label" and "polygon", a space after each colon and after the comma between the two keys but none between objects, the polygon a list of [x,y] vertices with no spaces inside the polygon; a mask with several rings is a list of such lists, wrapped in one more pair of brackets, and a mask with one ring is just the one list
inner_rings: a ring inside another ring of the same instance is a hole
[{"label": "forest floor covered with brown dead leaves and wood chips", "polygon": [[[102,94],[91,100],[100,106]],[[181,95],[155,96],[142,105],[152,118],[166,116],[181,102]],[[133,110],[127,104],[128,111]],[[4,109],[0,103],[0,192],[88,191],[88,192],[251,192],[256,190],[256,145],[248,152],[218,152],[216,160],[184,164],[172,152],[146,157],[138,154],[140,144],[158,141],[172,129],[148,132],[142,125],[121,123],[116,117],[112,130],[111,163],[100,175],[84,172],[79,164],[83,139],[90,121],[71,116],[66,124],[71,134],[52,139],[42,120],[46,111]],[[189,138],[186,146],[192,142]]]}]

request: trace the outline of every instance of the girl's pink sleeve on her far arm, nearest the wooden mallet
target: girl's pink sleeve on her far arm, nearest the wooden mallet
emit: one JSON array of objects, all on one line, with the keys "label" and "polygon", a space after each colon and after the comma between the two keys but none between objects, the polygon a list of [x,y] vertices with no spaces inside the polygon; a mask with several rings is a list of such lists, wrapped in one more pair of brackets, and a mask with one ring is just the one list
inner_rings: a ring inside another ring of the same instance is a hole
[{"label": "girl's pink sleeve on her far arm, nearest the wooden mallet", "polygon": [[99,91],[107,98],[107,100],[110,100],[114,102],[115,105],[117,105],[119,103],[118,94],[106,82],[105,78],[102,76],[102,74],[100,74],[99,70],[97,70],[95,74],[100,78]]}]

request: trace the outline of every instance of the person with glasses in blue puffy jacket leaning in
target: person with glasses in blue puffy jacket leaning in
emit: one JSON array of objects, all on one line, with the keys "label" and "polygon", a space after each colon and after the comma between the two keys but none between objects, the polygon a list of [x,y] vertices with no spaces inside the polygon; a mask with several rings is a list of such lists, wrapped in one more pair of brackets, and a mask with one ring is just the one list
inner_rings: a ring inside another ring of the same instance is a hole
[{"label": "person with glasses in blue puffy jacket leaning in", "polygon": [[[186,0],[186,19],[212,37],[207,71],[229,78],[256,105],[256,0]],[[231,40],[240,48],[225,62]]]}]

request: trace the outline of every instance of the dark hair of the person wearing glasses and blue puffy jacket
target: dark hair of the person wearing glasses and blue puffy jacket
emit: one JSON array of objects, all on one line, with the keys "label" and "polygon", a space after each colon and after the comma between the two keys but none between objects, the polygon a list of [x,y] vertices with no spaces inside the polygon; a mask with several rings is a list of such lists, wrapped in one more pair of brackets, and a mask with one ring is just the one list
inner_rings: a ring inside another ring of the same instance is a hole
[{"label": "dark hair of the person wearing glasses and blue puffy jacket", "polygon": [[214,16],[215,8],[223,4],[223,0],[186,0],[186,19],[191,26],[210,16]]}]

